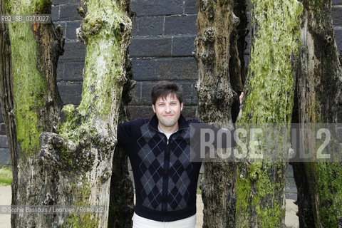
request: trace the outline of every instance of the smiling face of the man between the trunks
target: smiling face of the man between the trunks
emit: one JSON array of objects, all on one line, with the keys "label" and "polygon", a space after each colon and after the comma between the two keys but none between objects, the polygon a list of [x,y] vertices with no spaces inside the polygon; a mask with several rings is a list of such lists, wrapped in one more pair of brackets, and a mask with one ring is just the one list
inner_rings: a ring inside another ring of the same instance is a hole
[{"label": "smiling face of the man between the trunks", "polygon": [[183,103],[170,93],[166,98],[157,98],[153,111],[157,115],[160,130],[165,133],[172,133],[178,129],[178,119],[183,109]]}]

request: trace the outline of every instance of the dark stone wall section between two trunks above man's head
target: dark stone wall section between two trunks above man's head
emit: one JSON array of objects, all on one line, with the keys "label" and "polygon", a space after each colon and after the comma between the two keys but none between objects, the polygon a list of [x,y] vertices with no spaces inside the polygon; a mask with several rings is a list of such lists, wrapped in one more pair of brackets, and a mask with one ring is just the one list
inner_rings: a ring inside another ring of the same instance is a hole
[{"label": "dark stone wall section between two trunks above man's head", "polygon": [[187,118],[195,117],[197,63],[192,56],[197,34],[196,0],[132,0],[135,11],[130,57],[137,85],[129,111],[131,118],[149,118],[151,87],[162,80],[180,83]]}]

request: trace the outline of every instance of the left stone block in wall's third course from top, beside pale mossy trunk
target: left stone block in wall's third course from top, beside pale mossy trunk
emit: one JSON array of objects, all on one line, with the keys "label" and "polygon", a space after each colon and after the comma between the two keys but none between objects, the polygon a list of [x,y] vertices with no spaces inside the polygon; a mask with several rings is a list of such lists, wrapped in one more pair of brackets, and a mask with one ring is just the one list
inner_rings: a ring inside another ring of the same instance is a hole
[{"label": "left stone block in wall's third course from top, beside pale mossy trunk", "polygon": [[130,44],[131,57],[165,57],[171,56],[172,38],[152,37],[133,38]]}]

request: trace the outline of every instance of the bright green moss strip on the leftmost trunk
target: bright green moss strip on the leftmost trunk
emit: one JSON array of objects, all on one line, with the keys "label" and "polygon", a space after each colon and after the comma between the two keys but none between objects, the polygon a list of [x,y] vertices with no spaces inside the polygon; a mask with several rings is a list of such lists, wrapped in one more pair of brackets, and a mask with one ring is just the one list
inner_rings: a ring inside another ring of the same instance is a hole
[{"label": "bright green moss strip on the leftmost trunk", "polygon": [[[8,1],[11,14],[35,14],[41,1]],[[21,149],[27,154],[39,151],[39,135],[43,126],[38,124],[40,110],[45,108],[47,82],[36,68],[36,40],[31,24],[9,24],[14,85],[14,115],[16,134]]]}]

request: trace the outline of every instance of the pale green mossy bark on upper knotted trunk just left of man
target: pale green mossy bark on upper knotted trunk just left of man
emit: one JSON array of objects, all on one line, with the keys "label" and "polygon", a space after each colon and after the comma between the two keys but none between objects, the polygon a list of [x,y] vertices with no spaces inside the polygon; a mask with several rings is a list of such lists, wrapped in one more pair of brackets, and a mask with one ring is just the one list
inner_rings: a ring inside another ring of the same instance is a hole
[{"label": "pale green mossy bark on upper knotted trunk just left of man", "polygon": [[[115,113],[113,108],[118,112],[125,82],[125,50],[120,43],[123,40],[120,29],[125,23],[130,24],[113,1],[88,1],[87,9],[82,22],[87,45],[82,100],[71,113],[72,118],[70,115],[60,128],[63,137],[76,142],[81,139],[81,132],[95,130],[90,128],[97,120],[105,120],[110,113]],[[68,109],[63,111],[68,113]],[[110,125],[106,127],[113,130]]]}]

